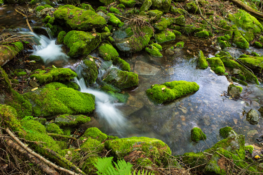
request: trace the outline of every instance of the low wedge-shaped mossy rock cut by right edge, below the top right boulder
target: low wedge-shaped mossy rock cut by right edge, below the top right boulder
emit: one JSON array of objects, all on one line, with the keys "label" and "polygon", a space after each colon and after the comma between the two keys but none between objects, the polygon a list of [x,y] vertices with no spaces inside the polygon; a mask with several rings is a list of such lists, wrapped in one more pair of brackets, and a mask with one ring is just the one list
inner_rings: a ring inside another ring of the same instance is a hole
[{"label": "low wedge-shaped mossy rock cut by right edge, below the top right boulder", "polygon": [[238,58],[237,60],[250,68],[254,73],[261,72],[263,68],[263,57],[244,57]]}]

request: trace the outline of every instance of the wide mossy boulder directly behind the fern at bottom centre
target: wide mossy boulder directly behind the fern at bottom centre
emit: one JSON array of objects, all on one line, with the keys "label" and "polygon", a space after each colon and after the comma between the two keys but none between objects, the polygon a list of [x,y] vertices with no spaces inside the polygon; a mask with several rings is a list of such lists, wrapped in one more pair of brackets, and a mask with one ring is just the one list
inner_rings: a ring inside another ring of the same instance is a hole
[{"label": "wide mossy boulder directly behind the fern at bottom centre", "polygon": [[142,151],[144,157],[151,158],[159,165],[168,163],[171,150],[163,141],[148,137],[130,137],[105,141],[105,148],[115,158],[123,158],[133,151]]}]

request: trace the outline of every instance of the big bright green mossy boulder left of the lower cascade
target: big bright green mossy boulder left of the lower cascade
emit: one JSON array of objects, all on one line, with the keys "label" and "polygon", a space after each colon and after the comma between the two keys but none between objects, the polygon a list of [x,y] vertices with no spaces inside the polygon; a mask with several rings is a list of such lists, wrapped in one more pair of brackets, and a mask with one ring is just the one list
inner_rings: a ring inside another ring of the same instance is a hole
[{"label": "big bright green mossy boulder left of the lower cascade", "polygon": [[32,104],[34,116],[90,113],[95,108],[95,97],[58,82],[23,94]]}]

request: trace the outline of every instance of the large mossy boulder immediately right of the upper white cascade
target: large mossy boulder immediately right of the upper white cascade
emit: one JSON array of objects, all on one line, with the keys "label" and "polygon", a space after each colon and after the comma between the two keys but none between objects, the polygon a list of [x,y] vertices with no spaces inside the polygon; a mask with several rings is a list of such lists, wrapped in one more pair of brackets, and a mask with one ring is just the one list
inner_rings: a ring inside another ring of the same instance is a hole
[{"label": "large mossy boulder immediately right of the upper white cascade", "polygon": [[100,34],[84,31],[69,31],[64,37],[64,44],[70,49],[68,56],[88,55],[101,42]]}]

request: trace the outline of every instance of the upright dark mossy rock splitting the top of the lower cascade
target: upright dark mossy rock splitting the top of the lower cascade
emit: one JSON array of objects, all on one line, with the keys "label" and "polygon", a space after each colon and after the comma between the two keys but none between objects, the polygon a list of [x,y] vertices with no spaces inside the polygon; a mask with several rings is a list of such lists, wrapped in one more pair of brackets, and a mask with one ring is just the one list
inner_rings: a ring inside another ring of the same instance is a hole
[{"label": "upright dark mossy rock splitting the top of the lower cascade", "polygon": [[91,56],[87,56],[81,63],[82,76],[88,86],[96,82],[98,77],[98,69],[95,60]]}]

